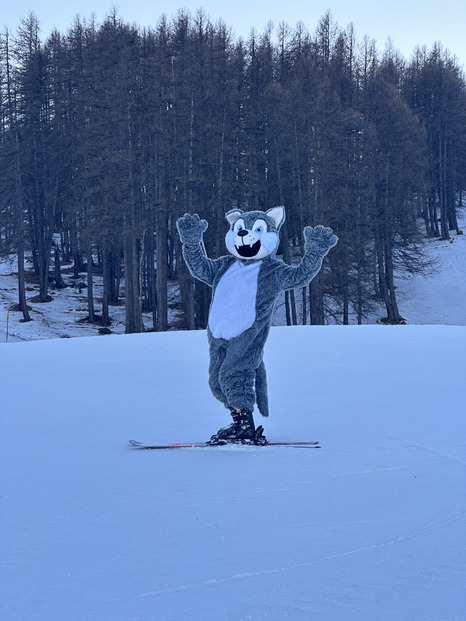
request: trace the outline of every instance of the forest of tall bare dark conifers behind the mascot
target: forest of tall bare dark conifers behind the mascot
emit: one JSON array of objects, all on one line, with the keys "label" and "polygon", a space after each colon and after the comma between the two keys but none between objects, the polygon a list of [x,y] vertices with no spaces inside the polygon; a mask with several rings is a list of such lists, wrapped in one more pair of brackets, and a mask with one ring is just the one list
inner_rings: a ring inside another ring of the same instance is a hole
[{"label": "forest of tall bare dark conifers behind the mascot", "polygon": [[462,234],[465,75],[441,43],[407,60],[330,13],[247,40],[202,10],[153,28],[76,18],[45,41],[30,15],[0,34],[0,171],[0,255],[17,257],[24,321],[26,279],[46,303],[72,265],[90,322],[124,303],[127,333],[147,329],[143,313],[153,330],[204,328],[211,291],[184,265],[176,219],[205,218],[217,257],[227,211],[284,205],[286,263],[305,225],[340,238],[287,293],[288,324],[363,323],[380,302],[403,323],[395,275],[432,269],[423,237]]}]

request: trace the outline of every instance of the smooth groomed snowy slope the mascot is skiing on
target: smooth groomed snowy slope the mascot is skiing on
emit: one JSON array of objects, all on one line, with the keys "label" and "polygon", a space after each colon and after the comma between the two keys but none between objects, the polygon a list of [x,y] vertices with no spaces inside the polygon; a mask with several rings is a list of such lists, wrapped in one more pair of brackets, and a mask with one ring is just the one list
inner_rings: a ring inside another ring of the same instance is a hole
[{"label": "smooth groomed snowy slope the mascot is skiing on", "polygon": [[463,621],[466,327],[274,328],[269,439],[204,332],[0,345],[0,618]]}]

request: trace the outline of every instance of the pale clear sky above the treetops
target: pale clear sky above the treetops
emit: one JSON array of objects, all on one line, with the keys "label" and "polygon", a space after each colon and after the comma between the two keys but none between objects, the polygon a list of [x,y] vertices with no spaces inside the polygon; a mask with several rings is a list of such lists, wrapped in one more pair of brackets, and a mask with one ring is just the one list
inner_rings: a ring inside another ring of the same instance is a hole
[{"label": "pale clear sky above the treetops", "polygon": [[355,34],[362,40],[365,35],[375,39],[377,49],[383,51],[390,38],[395,49],[409,59],[416,46],[432,45],[440,41],[454,54],[459,64],[466,66],[466,3],[464,0],[391,0],[374,3],[373,0],[179,0],[157,2],[154,0],[67,0],[62,3],[50,0],[16,0],[4,2],[0,11],[0,28],[8,27],[14,33],[20,20],[30,12],[41,24],[43,38],[54,28],[65,33],[74,18],[95,16],[102,22],[112,7],[119,16],[138,26],[154,26],[161,15],[173,17],[178,9],[195,13],[203,8],[213,22],[223,19],[237,37],[247,38],[251,28],[263,32],[269,21],[278,26],[285,22],[294,27],[302,21],[311,33],[320,18],[329,10],[340,28],[353,24]]}]

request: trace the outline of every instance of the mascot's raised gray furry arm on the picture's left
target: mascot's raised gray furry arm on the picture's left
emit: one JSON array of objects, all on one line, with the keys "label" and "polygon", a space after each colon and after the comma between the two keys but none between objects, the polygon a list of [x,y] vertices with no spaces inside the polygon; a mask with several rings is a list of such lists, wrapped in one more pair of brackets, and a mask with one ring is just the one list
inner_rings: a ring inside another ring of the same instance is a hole
[{"label": "mascot's raised gray furry arm on the picture's left", "polygon": [[207,230],[206,220],[196,214],[185,213],[176,221],[176,228],[183,244],[183,258],[191,274],[212,286],[218,270],[217,261],[208,259],[202,249],[202,236]]}]

